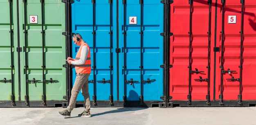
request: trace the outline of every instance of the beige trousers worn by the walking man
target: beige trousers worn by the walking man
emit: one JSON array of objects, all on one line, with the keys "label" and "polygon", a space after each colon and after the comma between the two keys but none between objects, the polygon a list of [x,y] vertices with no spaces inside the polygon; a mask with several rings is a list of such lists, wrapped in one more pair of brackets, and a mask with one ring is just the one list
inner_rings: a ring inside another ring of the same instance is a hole
[{"label": "beige trousers worn by the walking man", "polygon": [[70,103],[67,106],[67,111],[71,112],[76,106],[76,98],[81,90],[85,103],[85,112],[90,111],[90,96],[88,91],[88,77],[90,74],[76,74],[76,80],[71,90]]}]

